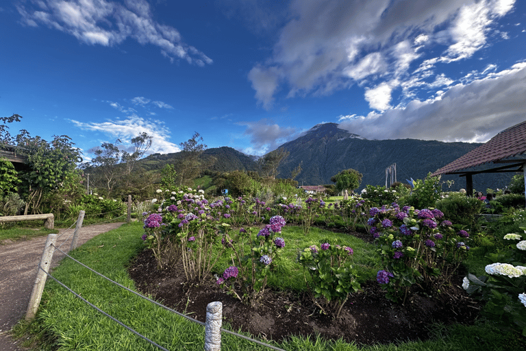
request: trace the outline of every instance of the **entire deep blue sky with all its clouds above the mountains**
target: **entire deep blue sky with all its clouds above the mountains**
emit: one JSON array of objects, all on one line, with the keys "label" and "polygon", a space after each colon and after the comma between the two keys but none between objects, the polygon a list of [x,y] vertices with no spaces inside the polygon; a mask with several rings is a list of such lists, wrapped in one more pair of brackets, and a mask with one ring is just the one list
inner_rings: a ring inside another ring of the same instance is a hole
[{"label": "entire deep blue sky with all its clouds above the mountains", "polygon": [[87,160],[140,132],[262,155],[325,122],[484,142],[526,119],[520,0],[0,0],[0,49],[10,132]]}]

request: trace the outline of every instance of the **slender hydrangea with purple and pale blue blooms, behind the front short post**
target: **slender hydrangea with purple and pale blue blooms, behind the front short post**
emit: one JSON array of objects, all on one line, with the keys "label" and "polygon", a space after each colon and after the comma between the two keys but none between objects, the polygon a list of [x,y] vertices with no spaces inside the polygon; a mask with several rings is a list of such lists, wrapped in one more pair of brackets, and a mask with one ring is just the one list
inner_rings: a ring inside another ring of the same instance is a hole
[{"label": "slender hydrangea with purple and pale blue blooms, behind the front short post", "polygon": [[[231,252],[234,266],[217,278],[217,283],[227,289],[240,301],[257,306],[263,296],[268,272],[279,258],[285,240],[278,237],[286,221],[281,216],[271,217],[254,237],[251,229],[241,228],[236,234],[229,234],[229,226],[223,224],[221,243]],[[235,271],[236,274],[231,274]]]}]

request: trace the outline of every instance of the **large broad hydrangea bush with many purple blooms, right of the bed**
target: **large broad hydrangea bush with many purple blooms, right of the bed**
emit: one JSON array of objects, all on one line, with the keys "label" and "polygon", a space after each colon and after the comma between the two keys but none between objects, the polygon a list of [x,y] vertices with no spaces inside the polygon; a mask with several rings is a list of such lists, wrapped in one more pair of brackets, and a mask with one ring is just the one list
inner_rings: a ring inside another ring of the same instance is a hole
[{"label": "large broad hydrangea bush with many purple blooms, right of the bed", "polygon": [[395,302],[405,303],[413,285],[430,295],[439,291],[470,250],[468,232],[454,230],[440,210],[400,208],[393,202],[371,208],[369,215],[369,231],[384,264],[377,281]]}]

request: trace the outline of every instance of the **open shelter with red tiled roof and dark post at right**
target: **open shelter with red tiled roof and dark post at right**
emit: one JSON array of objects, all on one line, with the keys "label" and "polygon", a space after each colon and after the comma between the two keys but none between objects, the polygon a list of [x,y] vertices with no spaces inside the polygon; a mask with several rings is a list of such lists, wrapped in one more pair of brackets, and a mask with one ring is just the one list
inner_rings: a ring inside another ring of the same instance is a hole
[{"label": "open shelter with red tiled roof and dark post at right", "polygon": [[[466,177],[466,193],[473,196],[473,175],[523,172],[526,175],[526,121],[503,130],[487,143],[436,170],[432,175],[458,174]],[[486,165],[480,169],[481,165]],[[526,177],[525,177],[526,184]]]}]

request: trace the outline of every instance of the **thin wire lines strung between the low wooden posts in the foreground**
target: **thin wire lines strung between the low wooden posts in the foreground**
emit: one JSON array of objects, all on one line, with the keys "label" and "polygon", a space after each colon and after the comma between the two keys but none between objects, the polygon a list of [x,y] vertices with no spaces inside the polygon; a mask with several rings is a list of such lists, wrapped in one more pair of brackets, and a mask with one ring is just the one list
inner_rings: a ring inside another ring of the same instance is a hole
[{"label": "thin wire lines strung between the low wooden posts in the foreground", "polygon": [[[127,291],[129,291],[130,293],[133,293],[134,295],[137,295],[138,297],[142,298],[142,299],[145,299],[153,304],[156,304],[157,306],[160,306],[164,309],[166,309],[166,311],[170,311],[172,313],[175,313],[176,315],[179,315],[181,317],[184,317],[186,319],[188,319],[190,322],[194,322],[194,323],[197,323],[197,324],[200,324],[201,326],[205,326],[206,324],[204,322],[201,322],[195,318],[192,318],[192,317],[189,317],[188,315],[184,315],[183,313],[180,313],[180,312],[177,312],[175,311],[174,309],[172,308],[169,308],[168,306],[164,306],[163,304],[160,304],[159,302],[157,301],[154,301],[154,300],[151,300],[150,298],[147,298],[145,295],[142,295],[132,289],[129,289],[128,287],[125,287],[124,285],[121,285],[120,283],[112,280],[111,278],[108,278],[107,276],[104,276],[103,274],[99,273],[98,271],[95,271],[95,269],[92,269],[90,267],[88,267],[87,265],[84,265],[84,263],[80,262],[80,261],[77,261],[75,258],[71,257],[70,255],[66,254],[66,252],[63,252],[62,250],[60,250],[59,247],[56,247],[55,245],[51,244],[53,247],[55,247],[55,250],[58,250],[59,252],[61,252],[62,254],[64,254],[66,257],[68,258],[71,258],[71,260],[73,260],[75,263],[78,263],[79,265],[82,265],[82,267],[85,267],[86,269],[92,271],[93,273],[97,274],[98,276],[101,276],[101,278],[104,278],[105,280],[108,280],[109,282],[112,282],[114,285],[117,285],[118,287],[121,287],[122,289],[125,289]],[[39,269],[42,269],[39,265]],[[43,270],[43,269],[42,269]],[[45,273],[50,276],[53,280],[55,280],[56,282],[58,282],[60,285],[62,285],[62,287],[68,289],[68,291],[71,291],[71,293],[73,293],[75,296],[77,296],[78,298],[80,298],[81,300],[83,300],[84,302],[86,302],[87,304],[89,304],[92,308],[95,308],[97,311],[99,311],[100,313],[103,313],[103,315],[107,316],[107,317],[110,317],[110,319],[114,320],[115,322],[117,322],[118,324],[120,324],[121,326],[125,327],[127,330],[130,330],[131,332],[133,332],[134,334],[138,335],[139,337],[141,337],[142,339],[145,339],[146,341],[148,341],[149,343],[151,343],[152,345],[154,346],[157,346],[158,348],[160,348],[161,350],[166,350],[165,348],[163,348],[162,346],[159,346],[157,343],[151,341],[150,339],[148,339],[147,337],[144,337],[143,335],[140,335],[140,333],[136,332],[136,330],[133,330],[132,328],[130,328],[129,326],[126,326],[125,324],[123,324],[122,322],[118,321],[118,319],[112,317],[111,315],[109,315],[108,313],[105,313],[104,311],[102,311],[100,308],[98,308],[97,306],[91,304],[90,302],[88,302],[87,300],[85,300],[84,298],[82,298],[79,294],[75,293],[75,291],[73,291],[72,289],[66,287],[66,285],[64,285],[64,283],[60,282],[59,280],[57,280],[56,278],[54,278],[53,276],[51,276],[49,273],[47,273],[45,271]],[[266,348],[271,348],[272,350],[276,350],[276,351],[286,351],[284,349],[281,349],[281,348],[277,348],[276,346],[273,346],[273,345],[270,345],[268,343],[263,343],[262,341],[259,341],[259,340],[255,340],[255,339],[252,339],[251,337],[247,337],[245,335],[241,335],[237,332],[233,332],[231,330],[227,330],[227,329],[224,329],[224,328],[221,328],[221,332],[226,332],[227,334],[230,334],[230,335],[234,335],[235,337],[240,337],[242,339],[245,339],[247,341],[251,341],[253,343],[257,343],[258,345],[260,346],[265,346]],[[166,350],[168,351],[168,350]]]}]

